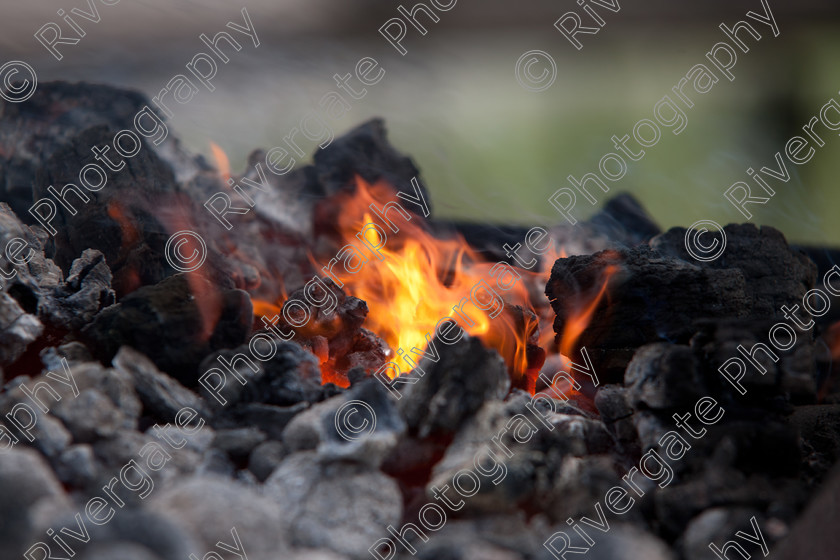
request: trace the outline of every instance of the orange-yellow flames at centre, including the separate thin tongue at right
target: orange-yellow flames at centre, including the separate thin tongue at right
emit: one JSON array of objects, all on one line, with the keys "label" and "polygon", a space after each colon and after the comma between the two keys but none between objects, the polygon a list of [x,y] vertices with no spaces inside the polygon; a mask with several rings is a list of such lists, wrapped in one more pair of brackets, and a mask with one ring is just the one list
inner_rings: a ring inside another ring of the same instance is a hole
[{"label": "orange-yellow flames at centre, including the separate thin tongue at right", "polygon": [[[313,263],[318,261],[317,268],[328,269],[347,294],[367,303],[364,327],[388,344],[389,359],[402,373],[410,371],[411,358],[419,359],[438,324],[448,318],[496,349],[508,365],[514,386],[533,393],[542,360],[529,359],[533,358],[529,343],[532,349],[539,345],[551,353],[562,349],[570,354],[606,293],[609,278],[568,321],[558,344],[552,332],[554,314],[543,290],[554,261],[566,255],[563,248],[543,256],[542,270],[530,271],[490,262],[460,235],[435,236],[421,219],[403,219],[397,210],[388,215],[398,226],[395,233],[370,209],[371,204],[382,208],[396,200],[395,191],[385,183],[371,185],[360,178],[356,183],[355,193],[335,195],[324,210],[340,209],[326,221],[334,224],[336,240],[343,246],[338,255],[345,259],[345,266],[322,268],[326,261],[315,258]],[[358,250],[362,245],[367,247],[365,252]],[[355,252],[352,247],[357,248]],[[352,273],[345,268],[347,263],[352,263]],[[258,314],[273,316],[279,311],[280,304],[255,301]],[[413,354],[412,349],[416,349]],[[325,380],[334,377],[334,372],[325,372]]]}]

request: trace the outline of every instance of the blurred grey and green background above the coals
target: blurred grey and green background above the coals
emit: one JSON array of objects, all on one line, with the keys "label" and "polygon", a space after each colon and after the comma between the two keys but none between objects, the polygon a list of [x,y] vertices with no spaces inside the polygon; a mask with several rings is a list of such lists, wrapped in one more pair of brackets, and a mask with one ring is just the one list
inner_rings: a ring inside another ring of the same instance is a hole
[{"label": "blurred grey and green background above the coals", "polygon": [[[692,66],[708,64],[705,53],[725,39],[720,23],[764,12],[760,0],[620,0],[619,13],[596,7],[606,26],[579,36],[584,48],[577,51],[553,27],[565,12],[580,11],[574,0],[459,0],[440,12],[440,23],[428,24],[425,37],[409,28],[408,53],[400,56],[378,29],[416,0],[95,2],[101,21],[77,17],[87,35],[60,47],[60,62],[33,34],[60,23],[57,10],[86,9],[87,0],[0,2],[2,59],[29,62],[42,81],[103,82],[153,96],[207,50],[200,33],[241,22],[244,6],[261,45],[244,42],[220,65],[216,91],[202,89],[174,110],[171,128],[190,149],[209,155],[213,141],[241,171],[251,150],[281,143],[336,89],[334,73],[352,72],[370,56],[386,76],[347,115],[328,121],[335,133],[382,116],[392,142],[421,168],[437,215],[521,224],[559,221],[547,197],[566,186],[565,177],[595,171],[615,151],[613,134],[652,118],[654,104]],[[748,167],[773,164],[788,138],[840,98],[840,4],[770,0],[770,7],[780,36],[755,23],[762,39],[744,36],[750,52],[739,53],[736,80],[695,94],[686,129],[679,136],[663,129],[659,144],[613,186],[635,194],[665,227],[745,221],[725,201],[726,189],[746,180]],[[514,78],[516,60],[533,49],[558,67],[556,83],[540,93]],[[315,142],[300,145],[309,161]],[[837,138],[826,137],[768,204],[752,206],[754,221],[793,241],[840,245],[838,149]],[[596,208],[578,203],[581,217]]]}]

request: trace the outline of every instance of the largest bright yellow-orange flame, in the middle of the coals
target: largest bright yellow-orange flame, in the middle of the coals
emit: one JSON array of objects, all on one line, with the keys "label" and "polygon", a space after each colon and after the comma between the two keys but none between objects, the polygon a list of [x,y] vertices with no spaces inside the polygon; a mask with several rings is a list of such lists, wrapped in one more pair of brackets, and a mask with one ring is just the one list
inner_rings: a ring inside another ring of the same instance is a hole
[{"label": "largest bright yellow-orange flame, in the middle of the coals", "polygon": [[[438,323],[449,317],[468,334],[499,350],[514,378],[521,377],[528,369],[527,337],[537,325],[517,325],[503,307],[530,308],[525,285],[518,282],[502,295],[495,277],[503,272],[491,272],[494,263],[481,257],[460,236],[433,236],[416,217],[398,221],[400,231],[387,231],[387,239],[382,236],[387,228],[366,227],[377,223],[370,205],[381,207],[394,198],[388,185],[369,185],[358,179],[357,192],[338,203],[342,208],[338,219],[342,243],[358,244],[358,234],[363,231],[362,241],[368,246],[382,245],[378,257],[357,273],[348,274],[341,267],[334,271],[347,293],[367,302],[370,312],[365,327],[394,351],[408,353],[413,348],[423,351]],[[397,216],[396,212],[392,214]],[[394,361],[404,372],[411,369],[402,357]]]}]

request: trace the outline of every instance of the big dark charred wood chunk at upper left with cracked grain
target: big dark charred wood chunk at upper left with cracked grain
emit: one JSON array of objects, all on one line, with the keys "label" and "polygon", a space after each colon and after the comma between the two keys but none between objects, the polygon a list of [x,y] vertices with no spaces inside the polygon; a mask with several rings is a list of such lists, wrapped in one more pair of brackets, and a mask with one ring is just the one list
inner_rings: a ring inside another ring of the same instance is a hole
[{"label": "big dark charred wood chunk at upper left with cracked grain", "polygon": [[[97,163],[91,146],[111,143],[116,132],[106,126],[85,130],[38,169],[34,195],[43,218],[39,222],[52,235],[48,253],[66,270],[86,249],[100,251],[122,296],[176,273],[166,257],[166,243],[177,231],[196,229],[213,234],[203,273],[219,285],[233,287],[231,267],[212,241],[221,226],[209,221],[200,203],[177,182],[169,163],[145,140],[135,156],[114,162],[122,165],[119,170]],[[89,164],[103,173],[102,185],[95,189],[80,182],[80,170]]]}]

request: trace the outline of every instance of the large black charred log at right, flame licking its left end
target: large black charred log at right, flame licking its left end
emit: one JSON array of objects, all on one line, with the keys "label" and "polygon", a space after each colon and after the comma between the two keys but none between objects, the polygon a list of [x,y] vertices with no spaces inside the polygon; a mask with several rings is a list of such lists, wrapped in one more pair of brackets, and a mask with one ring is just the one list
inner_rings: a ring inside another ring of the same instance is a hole
[{"label": "large black charred log at right, flame licking its left end", "polygon": [[[546,295],[557,314],[554,330],[562,337],[606,284],[578,347],[598,348],[602,359],[628,349],[667,340],[687,343],[703,319],[781,318],[782,305],[801,302],[816,281],[816,267],[792,251],[773,228],[752,225],[725,228],[724,256],[710,263],[694,261],[684,247],[685,230],[674,228],[650,246],[607,250],[559,259]],[[626,362],[612,363],[606,374],[620,378]]]}]

